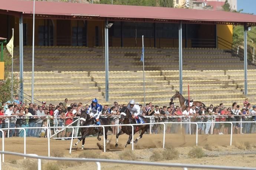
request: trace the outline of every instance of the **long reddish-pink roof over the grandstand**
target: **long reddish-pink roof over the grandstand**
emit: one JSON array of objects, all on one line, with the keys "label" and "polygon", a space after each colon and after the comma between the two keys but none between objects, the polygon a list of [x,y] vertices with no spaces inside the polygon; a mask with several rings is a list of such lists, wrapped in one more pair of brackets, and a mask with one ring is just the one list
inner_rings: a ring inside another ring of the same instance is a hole
[{"label": "long reddish-pink roof over the grandstand", "polygon": [[[0,13],[31,18],[33,1],[0,0]],[[108,4],[35,2],[36,18],[256,25],[256,15],[216,10]]]}]

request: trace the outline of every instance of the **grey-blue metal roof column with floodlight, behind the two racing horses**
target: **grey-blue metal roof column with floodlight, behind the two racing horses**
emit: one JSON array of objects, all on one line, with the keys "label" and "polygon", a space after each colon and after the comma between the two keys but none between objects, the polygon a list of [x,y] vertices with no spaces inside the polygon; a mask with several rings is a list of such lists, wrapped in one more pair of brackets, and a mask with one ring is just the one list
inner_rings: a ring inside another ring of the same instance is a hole
[{"label": "grey-blue metal roof column with floodlight, behind the two racing horses", "polygon": [[108,20],[105,21],[105,99],[108,98]]}]

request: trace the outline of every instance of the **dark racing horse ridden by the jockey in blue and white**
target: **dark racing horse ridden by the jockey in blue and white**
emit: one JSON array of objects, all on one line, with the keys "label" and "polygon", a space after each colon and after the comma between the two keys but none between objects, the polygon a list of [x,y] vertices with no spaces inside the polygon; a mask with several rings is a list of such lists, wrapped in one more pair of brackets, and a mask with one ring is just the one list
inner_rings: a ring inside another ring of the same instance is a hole
[{"label": "dark racing horse ridden by the jockey in blue and white", "polygon": [[[109,120],[103,117],[99,118],[99,122],[101,123],[101,125],[109,125]],[[73,147],[76,147],[77,144],[83,140],[82,142],[82,149],[83,149],[83,145],[85,144],[85,137],[89,136],[89,135],[93,135],[98,133],[97,139],[101,140],[101,138],[99,137],[100,134],[103,134],[103,127],[94,127],[94,119],[90,117],[89,114],[86,113],[86,111],[82,111],[81,115],[80,115],[80,126],[92,126],[92,127],[82,127],[81,128],[81,133],[82,133],[82,137],[78,139],[78,141],[73,145]],[[112,131],[111,127],[104,127],[105,129],[105,140],[106,143],[109,143],[109,140],[107,140],[107,133],[108,130]]]}]

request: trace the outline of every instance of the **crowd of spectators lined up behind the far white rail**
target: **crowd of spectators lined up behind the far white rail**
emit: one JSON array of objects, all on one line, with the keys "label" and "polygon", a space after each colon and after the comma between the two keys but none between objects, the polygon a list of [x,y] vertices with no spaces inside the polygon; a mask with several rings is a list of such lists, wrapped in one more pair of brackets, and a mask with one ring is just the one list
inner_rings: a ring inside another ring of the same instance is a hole
[{"label": "crowd of spectators lined up behind the far white rail", "polygon": [[[209,107],[191,106],[185,110],[177,103],[171,101],[169,106],[158,106],[147,103],[142,106],[137,103],[141,110],[142,116],[146,116],[148,122],[196,122],[196,124],[166,124],[166,133],[184,133],[184,134],[229,134],[231,133],[231,123],[233,124],[233,133],[255,133],[255,123],[246,123],[246,121],[256,121],[256,106],[252,106],[245,99],[243,106],[237,105],[236,102],[231,107],[219,104]],[[102,116],[108,117],[111,124],[118,124],[119,110],[126,104],[114,102],[112,106],[104,105]],[[72,129],[66,126],[79,126],[79,120],[73,123],[81,114],[82,110],[88,109],[88,104],[83,106],[82,103],[70,103],[65,99],[58,105],[42,102],[37,105],[33,103],[21,104],[18,96],[14,101],[7,101],[2,104],[0,112],[0,128],[14,127],[53,127],[51,134],[56,134],[61,140],[68,140]],[[245,121],[245,123],[243,123]],[[220,123],[216,123],[220,122]],[[241,123],[242,122],[242,123]],[[197,127],[197,128],[196,128]],[[113,126],[113,134],[117,132],[116,126]],[[151,125],[151,133],[161,133],[163,126],[159,124]],[[2,134],[0,134],[1,136]],[[4,130],[4,136],[24,136],[24,131],[19,129]],[[26,129],[26,136],[29,137],[46,137],[47,129]],[[80,135],[80,129],[75,128],[75,137]]]}]

